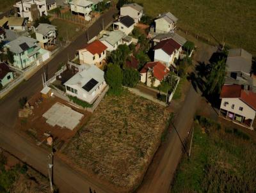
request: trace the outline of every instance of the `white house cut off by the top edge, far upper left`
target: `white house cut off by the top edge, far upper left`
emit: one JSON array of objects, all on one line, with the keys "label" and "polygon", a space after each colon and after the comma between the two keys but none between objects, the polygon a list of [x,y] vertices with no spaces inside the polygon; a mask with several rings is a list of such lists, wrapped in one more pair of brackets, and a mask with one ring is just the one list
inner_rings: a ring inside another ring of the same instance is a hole
[{"label": "white house cut off by the top edge, far upper left", "polygon": [[45,0],[23,0],[13,5],[19,17],[28,17],[34,21],[42,15],[48,15]]}]

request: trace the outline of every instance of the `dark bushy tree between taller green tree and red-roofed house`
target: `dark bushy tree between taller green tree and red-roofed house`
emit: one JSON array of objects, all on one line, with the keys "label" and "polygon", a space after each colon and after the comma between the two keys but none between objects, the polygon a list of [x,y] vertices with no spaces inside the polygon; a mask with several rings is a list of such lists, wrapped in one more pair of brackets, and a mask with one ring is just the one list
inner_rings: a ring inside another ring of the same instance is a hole
[{"label": "dark bushy tree between taller green tree and red-roofed house", "polygon": [[123,85],[135,87],[140,81],[140,73],[133,68],[125,68],[123,71]]}]

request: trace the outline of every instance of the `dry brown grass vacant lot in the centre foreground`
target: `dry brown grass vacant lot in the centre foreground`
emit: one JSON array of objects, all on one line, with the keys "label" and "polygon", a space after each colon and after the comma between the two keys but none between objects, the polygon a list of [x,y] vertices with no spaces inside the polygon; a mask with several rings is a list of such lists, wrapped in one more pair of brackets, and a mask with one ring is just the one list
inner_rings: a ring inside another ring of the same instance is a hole
[{"label": "dry brown grass vacant lot in the centre foreground", "polygon": [[125,91],[106,96],[64,151],[122,190],[138,186],[168,122],[165,107]]}]

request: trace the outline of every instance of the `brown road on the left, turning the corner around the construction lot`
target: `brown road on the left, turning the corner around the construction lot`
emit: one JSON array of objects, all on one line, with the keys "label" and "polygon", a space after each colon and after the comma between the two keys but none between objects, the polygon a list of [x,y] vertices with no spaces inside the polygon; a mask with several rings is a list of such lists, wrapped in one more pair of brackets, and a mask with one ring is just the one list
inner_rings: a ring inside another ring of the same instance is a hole
[{"label": "brown road on the left, turning the corner around the construction lot", "polygon": [[[89,29],[90,38],[99,34],[102,30],[102,19],[104,23],[108,24],[113,20],[113,13],[116,10],[109,10],[102,17],[97,20]],[[56,72],[58,65],[62,62],[67,62],[67,58],[74,57],[77,49],[81,49],[86,45],[87,38],[85,33],[79,36],[77,40],[70,43],[67,48],[57,54],[48,64],[48,75],[51,77]],[[23,82],[20,86],[12,91],[6,98],[1,100],[0,104],[0,146],[5,150],[10,151],[13,155],[19,157],[24,162],[41,173],[47,175],[47,151],[38,148],[29,143],[22,136],[17,134],[13,129],[15,121],[17,120],[19,109],[19,98],[22,96],[32,96],[42,89],[41,74],[44,69],[40,69],[28,81]],[[92,190],[99,192],[113,192],[108,191],[108,187],[97,184],[84,174],[77,173],[74,169],[66,164],[63,164],[58,158],[54,160],[54,182],[60,188],[60,192],[89,192],[89,187]]]}]

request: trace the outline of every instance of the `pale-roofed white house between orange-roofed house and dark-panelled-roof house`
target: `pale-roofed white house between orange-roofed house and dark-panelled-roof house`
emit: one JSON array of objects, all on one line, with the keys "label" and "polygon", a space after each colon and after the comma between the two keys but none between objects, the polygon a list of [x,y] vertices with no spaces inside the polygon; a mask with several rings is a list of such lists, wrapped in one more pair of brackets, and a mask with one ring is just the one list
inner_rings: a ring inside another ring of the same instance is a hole
[{"label": "pale-roofed white house between orange-roofed house and dark-panelled-roof house", "polygon": [[104,45],[108,47],[107,50],[111,52],[116,50],[118,45],[130,45],[132,43],[132,37],[125,35],[125,33],[120,30],[107,31],[106,34],[100,38],[100,42],[104,43]]}]

